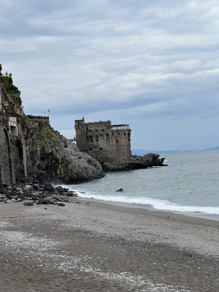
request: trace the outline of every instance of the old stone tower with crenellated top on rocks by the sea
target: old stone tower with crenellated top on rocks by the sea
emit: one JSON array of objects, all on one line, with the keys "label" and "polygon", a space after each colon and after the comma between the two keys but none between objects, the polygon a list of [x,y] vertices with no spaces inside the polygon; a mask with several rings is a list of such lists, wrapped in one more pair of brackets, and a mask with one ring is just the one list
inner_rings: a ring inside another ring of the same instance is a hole
[{"label": "old stone tower with crenellated top on rocks by the sea", "polygon": [[99,162],[120,165],[131,157],[129,125],[112,125],[111,121],[85,123],[75,120],[77,146]]}]

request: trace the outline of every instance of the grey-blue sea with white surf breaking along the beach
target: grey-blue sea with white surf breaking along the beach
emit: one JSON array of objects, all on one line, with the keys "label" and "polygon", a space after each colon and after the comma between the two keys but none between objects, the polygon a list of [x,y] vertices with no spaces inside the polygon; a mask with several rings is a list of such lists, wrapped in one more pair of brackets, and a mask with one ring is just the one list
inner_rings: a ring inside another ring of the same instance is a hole
[{"label": "grey-blue sea with white surf breaking along the beach", "polygon": [[62,186],[109,204],[219,220],[219,150],[163,157],[168,166],[106,171],[104,178]]}]

